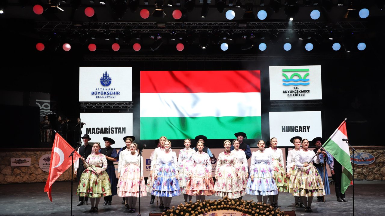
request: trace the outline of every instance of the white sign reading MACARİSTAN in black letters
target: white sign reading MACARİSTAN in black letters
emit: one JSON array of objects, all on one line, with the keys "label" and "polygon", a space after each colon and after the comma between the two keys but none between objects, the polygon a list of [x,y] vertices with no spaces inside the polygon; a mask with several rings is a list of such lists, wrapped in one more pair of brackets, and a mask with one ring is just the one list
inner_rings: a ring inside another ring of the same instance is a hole
[{"label": "white sign reading MACAR\u0130STAN in black letters", "polygon": [[122,148],[126,146],[123,137],[132,136],[132,113],[80,113],[80,119],[86,123],[82,135],[90,135],[91,142],[99,142],[102,148],[103,137],[115,141],[113,148]]}]

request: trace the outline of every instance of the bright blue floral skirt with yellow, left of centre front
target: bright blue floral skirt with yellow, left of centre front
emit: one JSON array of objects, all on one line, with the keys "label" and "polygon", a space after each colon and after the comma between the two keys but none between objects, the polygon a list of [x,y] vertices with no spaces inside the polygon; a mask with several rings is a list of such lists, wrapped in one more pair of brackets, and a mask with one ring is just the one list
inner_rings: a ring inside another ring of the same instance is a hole
[{"label": "bright blue floral skirt with yellow, left of centre front", "polygon": [[157,175],[158,177],[152,185],[151,195],[172,197],[181,194],[181,188],[175,176],[174,167],[162,164]]}]

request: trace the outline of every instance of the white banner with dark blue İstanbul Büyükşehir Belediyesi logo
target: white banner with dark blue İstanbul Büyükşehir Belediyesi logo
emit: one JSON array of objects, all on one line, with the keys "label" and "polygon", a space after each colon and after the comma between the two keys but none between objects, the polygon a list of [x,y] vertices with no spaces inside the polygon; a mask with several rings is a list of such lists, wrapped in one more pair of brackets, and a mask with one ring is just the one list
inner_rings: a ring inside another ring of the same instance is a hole
[{"label": "white banner with dark blue \u0130stanbul B\u00fcy\u00fck\u015fehir Belediyesi logo", "polygon": [[80,67],[79,101],[132,101],[131,67]]}]

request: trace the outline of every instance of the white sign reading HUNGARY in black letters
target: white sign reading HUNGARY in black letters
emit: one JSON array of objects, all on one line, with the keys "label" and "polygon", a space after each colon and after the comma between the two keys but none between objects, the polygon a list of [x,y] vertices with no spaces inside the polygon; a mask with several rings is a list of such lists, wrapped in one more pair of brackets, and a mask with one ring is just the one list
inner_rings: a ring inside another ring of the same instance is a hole
[{"label": "white sign reading HUNGARY in black letters", "polygon": [[270,136],[277,138],[278,146],[293,146],[293,136],[310,141],[322,137],[321,111],[269,112],[269,124]]}]

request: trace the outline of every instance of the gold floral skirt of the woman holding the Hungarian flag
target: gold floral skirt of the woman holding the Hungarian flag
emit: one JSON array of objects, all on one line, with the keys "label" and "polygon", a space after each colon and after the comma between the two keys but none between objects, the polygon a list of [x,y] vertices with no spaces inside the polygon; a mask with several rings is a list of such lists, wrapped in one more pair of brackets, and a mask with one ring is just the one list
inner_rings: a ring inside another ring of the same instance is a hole
[{"label": "gold floral skirt of the woman holding the Hungarian flag", "polygon": [[298,168],[292,185],[293,196],[325,196],[321,176],[313,164]]}]

